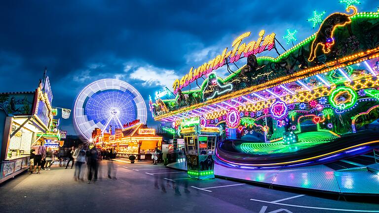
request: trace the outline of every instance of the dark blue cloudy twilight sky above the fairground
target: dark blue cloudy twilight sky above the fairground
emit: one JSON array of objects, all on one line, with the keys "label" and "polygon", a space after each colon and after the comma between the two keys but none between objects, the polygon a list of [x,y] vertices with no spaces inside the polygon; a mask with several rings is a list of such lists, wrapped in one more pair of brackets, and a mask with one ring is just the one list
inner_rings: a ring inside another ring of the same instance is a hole
[{"label": "dark blue cloudy twilight sky above the fairground", "polygon": [[[360,1],[358,11],[378,10],[377,0]],[[251,41],[262,29],[274,32],[289,48],[287,28],[298,30],[298,41],[316,32],[306,21],[313,9],[344,8],[338,0],[1,1],[0,92],[33,91],[46,66],[53,106],[72,108],[76,94],[102,78],[128,82],[148,104],[154,91],[171,89],[242,33],[252,32]],[[71,118],[62,129],[75,134]],[[150,112],[148,125],[156,125]]]}]

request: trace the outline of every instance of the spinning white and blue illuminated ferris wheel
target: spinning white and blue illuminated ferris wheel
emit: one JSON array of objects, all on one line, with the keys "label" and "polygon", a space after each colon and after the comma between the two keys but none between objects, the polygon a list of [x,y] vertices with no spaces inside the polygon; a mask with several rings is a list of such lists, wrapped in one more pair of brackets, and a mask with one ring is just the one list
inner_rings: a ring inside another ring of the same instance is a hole
[{"label": "spinning white and blue illuminated ferris wheel", "polygon": [[116,79],[102,79],[86,86],[74,102],[74,127],[87,140],[95,128],[104,131],[123,128],[139,119],[146,123],[147,111],[141,94],[130,84]]}]

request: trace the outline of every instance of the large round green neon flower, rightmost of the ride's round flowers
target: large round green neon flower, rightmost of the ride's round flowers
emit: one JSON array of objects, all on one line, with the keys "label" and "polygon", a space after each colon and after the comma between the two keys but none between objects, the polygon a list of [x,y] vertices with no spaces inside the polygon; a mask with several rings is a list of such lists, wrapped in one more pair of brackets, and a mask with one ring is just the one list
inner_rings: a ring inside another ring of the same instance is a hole
[{"label": "large round green neon flower, rightmost of the ride's round flowers", "polygon": [[350,87],[338,87],[329,96],[329,103],[336,109],[351,108],[357,102],[357,93]]}]

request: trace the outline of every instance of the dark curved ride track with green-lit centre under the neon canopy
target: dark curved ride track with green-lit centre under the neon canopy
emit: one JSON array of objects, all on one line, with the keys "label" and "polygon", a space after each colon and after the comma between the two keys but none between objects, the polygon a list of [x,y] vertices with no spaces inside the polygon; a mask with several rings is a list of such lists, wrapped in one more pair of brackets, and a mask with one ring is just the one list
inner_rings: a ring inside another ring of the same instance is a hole
[{"label": "dark curved ride track with green-lit centre under the neon canopy", "polygon": [[300,140],[297,144],[284,145],[225,140],[218,143],[216,156],[225,166],[232,167],[272,169],[324,164],[372,151],[379,147],[379,133],[349,134],[331,142],[313,142],[310,146],[306,143],[312,142]]}]

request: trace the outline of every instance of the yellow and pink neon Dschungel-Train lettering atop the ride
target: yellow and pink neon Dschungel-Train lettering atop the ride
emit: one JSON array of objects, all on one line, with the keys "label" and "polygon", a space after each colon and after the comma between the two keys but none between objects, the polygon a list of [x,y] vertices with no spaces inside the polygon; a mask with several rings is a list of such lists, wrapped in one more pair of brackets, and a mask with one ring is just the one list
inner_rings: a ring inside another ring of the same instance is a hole
[{"label": "yellow and pink neon Dschungel-Train lettering atop the ride", "polygon": [[233,62],[238,61],[241,58],[242,54],[243,54],[243,57],[248,57],[251,54],[258,54],[265,50],[271,50],[274,47],[275,34],[272,33],[270,35],[267,35],[265,36],[265,39],[264,39],[263,38],[263,36],[265,35],[264,30],[259,32],[259,38],[256,41],[251,41],[248,44],[246,43],[241,44],[242,39],[249,37],[250,34],[251,32],[247,32],[247,33],[242,34],[241,36],[238,36],[231,44],[231,47],[233,47],[233,50],[227,52],[227,48],[225,48],[224,51],[221,53],[221,55],[218,55],[216,58],[210,60],[208,63],[204,63],[203,65],[199,66],[197,69],[193,70],[193,67],[192,67],[189,70],[188,74],[183,76],[180,80],[176,79],[172,85],[174,89],[174,94],[177,94],[178,90],[182,89],[183,87],[186,87],[187,85],[189,85],[196,79],[200,78],[201,76],[208,74],[224,66],[227,58],[229,58],[229,63],[233,63]]}]

